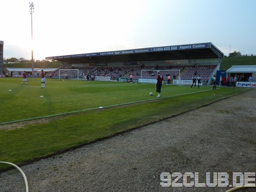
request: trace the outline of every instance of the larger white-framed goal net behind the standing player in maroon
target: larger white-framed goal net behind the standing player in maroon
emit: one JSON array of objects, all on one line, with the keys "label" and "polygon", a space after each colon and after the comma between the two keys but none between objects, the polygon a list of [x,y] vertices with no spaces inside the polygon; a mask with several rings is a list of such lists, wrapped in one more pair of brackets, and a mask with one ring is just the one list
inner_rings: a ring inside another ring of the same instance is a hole
[{"label": "larger white-framed goal net behind the standing player in maroon", "polygon": [[[180,79],[180,69],[170,69],[170,70],[141,70],[141,78],[139,82],[143,83],[156,83],[157,72],[164,77],[162,84],[171,84],[172,78]],[[168,82],[168,76],[170,76],[170,83]]]}]

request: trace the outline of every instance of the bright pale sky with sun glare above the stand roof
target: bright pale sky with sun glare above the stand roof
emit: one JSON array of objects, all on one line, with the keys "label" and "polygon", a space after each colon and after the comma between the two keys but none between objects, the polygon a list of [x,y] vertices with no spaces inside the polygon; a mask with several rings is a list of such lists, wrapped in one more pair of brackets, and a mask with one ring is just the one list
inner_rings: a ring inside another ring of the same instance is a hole
[{"label": "bright pale sky with sun glare above the stand roof", "polygon": [[[33,42],[29,2],[34,4]],[[256,54],[256,0],[1,0],[4,58],[212,42]]]}]

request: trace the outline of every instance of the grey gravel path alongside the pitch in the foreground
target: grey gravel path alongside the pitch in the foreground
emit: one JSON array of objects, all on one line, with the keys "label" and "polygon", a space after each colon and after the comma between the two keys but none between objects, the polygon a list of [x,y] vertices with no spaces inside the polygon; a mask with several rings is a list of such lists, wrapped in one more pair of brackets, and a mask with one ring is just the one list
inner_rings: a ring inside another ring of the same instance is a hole
[{"label": "grey gravel path alongside the pitch in the foreground", "polygon": [[[160,174],[199,172],[205,183],[205,172],[228,172],[230,182],[232,172],[255,172],[255,99],[256,89],[21,169],[36,192],[226,191],[230,187],[162,187]],[[21,174],[1,173],[0,191],[25,191]]]}]

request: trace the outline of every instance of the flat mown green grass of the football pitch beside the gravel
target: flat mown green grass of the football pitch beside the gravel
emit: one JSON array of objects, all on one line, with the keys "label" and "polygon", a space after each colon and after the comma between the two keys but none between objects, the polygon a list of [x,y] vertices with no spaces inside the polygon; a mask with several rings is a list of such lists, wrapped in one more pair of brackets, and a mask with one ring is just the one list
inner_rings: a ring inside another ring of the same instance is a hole
[{"label": "flat mown green grass of the football pitch beside the gravel", "polygon": [[[29,86],[20,83],[21,78],[0,78],[2,123],[88,108],[97,109],[36,122],[0,125],[0,161],[15,164],[158,121],[246,90],[163,85],[161,96],[166,98],[159,99],[156,98],[155,86],[152,84],[46,79],[46,88],[39,89],[39,78],[29,78]],[[154,95],[150,96],[149,92]],[[178,94],[184,95],[174,96]],[[44,97],[41,98],[41,95]],[[100,106],[135,101],[141,102],[98,109]],[[0,169],[6,167],[8,165],[0,164]]]}]

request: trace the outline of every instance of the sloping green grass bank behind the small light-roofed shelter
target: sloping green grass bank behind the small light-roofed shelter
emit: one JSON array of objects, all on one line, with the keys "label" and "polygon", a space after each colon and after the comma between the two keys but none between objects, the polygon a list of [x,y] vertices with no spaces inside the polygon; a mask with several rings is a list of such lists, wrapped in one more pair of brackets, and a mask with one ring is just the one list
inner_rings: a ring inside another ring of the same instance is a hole
[{"label": "sloping green grass bank behind the small light-roofed shelter", "polygon": [[232,65],[256,65],[256,56],[225,57],[220,64],[220,70],[228,70]]}]

